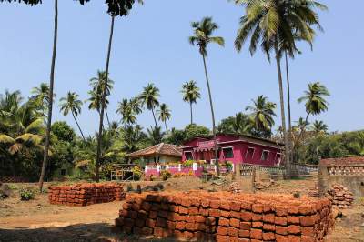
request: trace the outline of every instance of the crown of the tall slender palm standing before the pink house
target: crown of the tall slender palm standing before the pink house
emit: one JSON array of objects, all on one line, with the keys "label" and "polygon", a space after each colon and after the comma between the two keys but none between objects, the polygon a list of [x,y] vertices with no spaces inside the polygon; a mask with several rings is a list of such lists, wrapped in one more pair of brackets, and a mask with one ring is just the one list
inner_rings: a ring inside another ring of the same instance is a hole
[{"label": "crown of the tall slender palm standing before the pink house", "polygon": [[189,43],[191,45],[198,45],[201,55],[207,56],[207,45],[209,43],[225,45],[223,37],[211,36],[218,29],[218,25],[212,21],[211,17],[204,17],[200,22],[192,22],[191,26],[194,28],[195,33],[189,36]]}]

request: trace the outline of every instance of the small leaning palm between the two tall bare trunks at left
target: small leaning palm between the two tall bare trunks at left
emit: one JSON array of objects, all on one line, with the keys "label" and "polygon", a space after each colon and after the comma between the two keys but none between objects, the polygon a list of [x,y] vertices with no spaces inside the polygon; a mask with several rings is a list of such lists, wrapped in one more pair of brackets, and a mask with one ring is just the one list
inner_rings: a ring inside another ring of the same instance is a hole
[{"label": "small leaning palm between the two tall bare trunks at left", "polygon": [[78,99],[78,95],[75,92],[68,92],[66,97],[62,97],[60,100],[61,111],[64,116],[67,116],[68,113],[71,113],[74,117],[78,130],[81,133],[84,142],[86,143],[86,139],[84,133],[82,132],[81,127],[79,126],[76,116],[81,114],[81,106],[83,105],[82,101]]}]

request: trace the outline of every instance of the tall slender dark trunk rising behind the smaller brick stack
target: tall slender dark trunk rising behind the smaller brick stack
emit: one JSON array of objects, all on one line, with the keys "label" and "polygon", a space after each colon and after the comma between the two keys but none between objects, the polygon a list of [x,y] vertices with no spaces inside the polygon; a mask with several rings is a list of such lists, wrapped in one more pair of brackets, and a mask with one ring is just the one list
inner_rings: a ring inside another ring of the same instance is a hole
[{"label": "tall slender dark trunk rising behind the smaller brick stack", "polygon": [[[113,35],[114,35],[114,21],[115,17],[111,16],[111,27],[110,27],[110,36],[108,40],[107,47],[107,56],[106,56],[106,81],[104,82],[104,88],[102,98],[101,98],[101,112],[100,112],[100,122],[98,125],[98,136],[97,136],[97,153],[96,153],[96,172],[95,172],[95,180],[98,182],[100,180],[99,176],[99,167],[100,167],[100,157],[101,157],[101,146],[102,146],[102,134],[103,134],[103,123],[104,123],[104,112],[105,112],[105,99],[106,99],[106,85],[108,82],[108,66],[110,64],[110,54],[111,54],[111,45],[113,44]],[[102,81],[102,80],[101,80]]]}]

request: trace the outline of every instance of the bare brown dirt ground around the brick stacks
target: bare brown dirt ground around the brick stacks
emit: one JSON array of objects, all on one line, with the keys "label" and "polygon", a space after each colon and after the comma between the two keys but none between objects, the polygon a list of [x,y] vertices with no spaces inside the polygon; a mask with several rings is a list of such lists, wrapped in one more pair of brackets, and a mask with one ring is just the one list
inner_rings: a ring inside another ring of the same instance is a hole
[{"label": "bare brown dirt ground around the brick stacks", "polygon": [[[315,188],[316,177],[278,181],[257,192],[288,193],[299,192],[308,195]],[[202,182],[194,177],[172,178],[164,182],[133,182],[131,186],[146,187],[162,183],[165,190],[227,190],[223,185]],[[50,184],[46,184],[48,187]],[[97,204],[88,207],[65,207],[50,205],[47,194],[37,194],[34,200],[20,201],[20,187],[36,187],[35,184],[12,184],[14,194],[0,200],[0,241],[157,241],[157,239],[126,236],[114,227],[114,220],[123,202]],[[251,191],[251,180],[240,181],[243,192]],[[364,241],[364,206],[344,210],[344,216],[337,219],[335,229],[327,241]],[[168,241],[164,239],[163,241]]]}]

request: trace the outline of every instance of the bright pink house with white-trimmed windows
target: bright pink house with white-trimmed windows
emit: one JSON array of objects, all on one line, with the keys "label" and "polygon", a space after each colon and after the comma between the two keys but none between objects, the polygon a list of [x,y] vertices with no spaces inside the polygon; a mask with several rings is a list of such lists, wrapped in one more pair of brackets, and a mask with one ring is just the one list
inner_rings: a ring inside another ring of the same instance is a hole
[{"label": "bright pink house with white-trimmed windows", "polygon": [[[275,166],[281,162],[282,145],[274,141],[253,136],[217,135],[218,159],[233,164]],[[182,147],[182,161],[206,160],[215,162],[213,137],[196,137]]]}]

